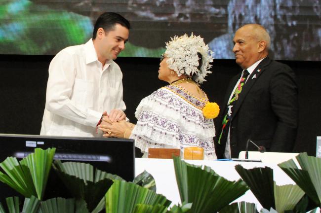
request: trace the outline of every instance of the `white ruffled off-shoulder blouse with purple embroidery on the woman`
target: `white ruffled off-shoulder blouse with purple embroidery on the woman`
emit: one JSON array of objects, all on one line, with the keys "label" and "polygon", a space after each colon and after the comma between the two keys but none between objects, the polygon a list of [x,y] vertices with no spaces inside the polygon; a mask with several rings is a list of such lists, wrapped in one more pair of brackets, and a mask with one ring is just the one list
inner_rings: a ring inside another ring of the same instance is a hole
[{"label": "white ruffled off-shoulder blouse with purple embroidery on the woman", "polygon": [[207,98],[198,99],[180,86],[162,87],[144,98],[136,108],[137,124],[130,138],[143,153],[148,148],[199,146],[204,159],[217,159],[213,119],[205,119],[201,109]]}]

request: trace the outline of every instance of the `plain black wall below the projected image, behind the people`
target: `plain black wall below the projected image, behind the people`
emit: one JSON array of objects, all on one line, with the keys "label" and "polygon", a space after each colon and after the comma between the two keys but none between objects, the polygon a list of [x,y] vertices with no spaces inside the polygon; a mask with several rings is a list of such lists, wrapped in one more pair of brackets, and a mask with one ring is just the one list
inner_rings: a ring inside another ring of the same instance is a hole
[{"label": "plain black wall below the projected image, behind the people", "polygon": [[[40,133],[48,66],[53,56],[0,55],[0,133]],[[118,58],[123,72],[127,117],[133,122],[140,100],[161,86],[159,59]],[[321,136],[321,62],[281,61],[297,74],[299,87],[299,130],[294,152],[316,154]],[[213,73],[202,84],[211,102],[222,104],[229,80],[240,71],[234,60],[214,60]],[[1,148],[1,147],[0,147]]]}]

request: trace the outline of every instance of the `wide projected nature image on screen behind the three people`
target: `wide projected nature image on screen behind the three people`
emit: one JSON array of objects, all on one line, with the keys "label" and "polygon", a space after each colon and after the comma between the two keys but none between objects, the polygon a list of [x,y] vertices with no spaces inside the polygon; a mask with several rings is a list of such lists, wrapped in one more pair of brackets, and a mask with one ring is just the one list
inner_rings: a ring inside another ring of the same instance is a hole
[{"label": "wide projected nature image on screen behind the three people", "polygon": [[85,43],[107,11],[131,23],[120,56],[159,57],[170,37],[193,32],[215,58],[234,59],[234,33],[258,23],[274,59],[321,61],[321,0],[0,0],[0,54],[55,55]]}]

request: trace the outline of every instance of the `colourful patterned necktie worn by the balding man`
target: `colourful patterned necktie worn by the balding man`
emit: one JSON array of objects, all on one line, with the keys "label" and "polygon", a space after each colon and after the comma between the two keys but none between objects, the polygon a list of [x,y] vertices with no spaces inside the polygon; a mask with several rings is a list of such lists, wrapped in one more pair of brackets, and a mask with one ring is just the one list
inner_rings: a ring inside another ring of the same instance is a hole
[{"label": "colourful patterned necktie worn by the balding man", "polygon": [[239,99],[239,95],[242,91],[242,87],[243,85],[245,84],[246,82],[246,78],[248,76],[248,71],[247,70],[244,70],[243,71],[243,74],[241,76],[241,81],[240,83],[238,84],[238,86],[236,87],[234,93],[233,93],[233,96],[230,100],[230,102],[228,103],[226,109],[225,109],[225,116],[224,116],[224,119],[223,119],[223,122],[222,122],[222,131],[221,131],[221,134],[220,134],[220,137],[218,139],[218,144],[221,144],[221,140],[223,141],[227,141],[227,135],[228,135],[228,132],[229,132],[229,129],[230,129],[230,119],[232,117],[232,108],[233,106],[236,104],[236,102],[238,101]]}]

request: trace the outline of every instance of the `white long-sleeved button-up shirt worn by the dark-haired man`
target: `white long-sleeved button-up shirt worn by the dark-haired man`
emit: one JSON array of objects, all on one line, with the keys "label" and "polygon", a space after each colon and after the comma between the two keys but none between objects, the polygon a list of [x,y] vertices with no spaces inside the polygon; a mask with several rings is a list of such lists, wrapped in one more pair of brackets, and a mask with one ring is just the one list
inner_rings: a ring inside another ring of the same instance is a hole
[{"label": "white long-sleeved button-up shirt worn by the dark-haired man", "polygon": [[122,73],[113,61],[103,66],[93,41],[61,50],[51,61],[40,135],[101,137],[103,111],[125,110]]}]

